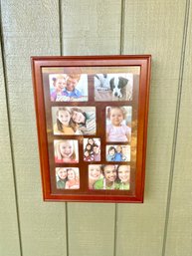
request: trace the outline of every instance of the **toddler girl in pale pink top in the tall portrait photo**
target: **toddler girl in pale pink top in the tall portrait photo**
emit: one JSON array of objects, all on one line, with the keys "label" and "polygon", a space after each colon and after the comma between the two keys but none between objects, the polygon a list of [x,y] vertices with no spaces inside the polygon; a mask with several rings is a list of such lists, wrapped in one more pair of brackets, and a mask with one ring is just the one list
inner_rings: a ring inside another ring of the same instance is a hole
[{"label": "toddler girl in pale pink top in the tall portrait photo", "polygon": [[110,125],[106,126],[106,141],[129,142],[130,128],[122,124],[126,118],[123,107],[107,107],[106,118],[110,120]]}]

